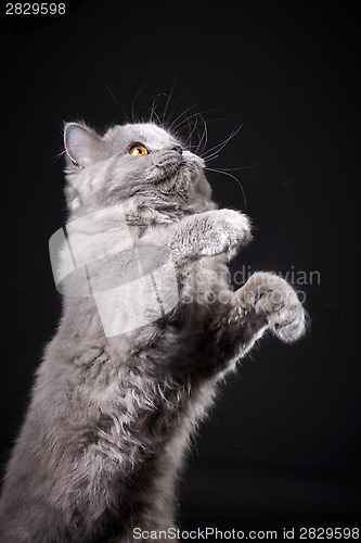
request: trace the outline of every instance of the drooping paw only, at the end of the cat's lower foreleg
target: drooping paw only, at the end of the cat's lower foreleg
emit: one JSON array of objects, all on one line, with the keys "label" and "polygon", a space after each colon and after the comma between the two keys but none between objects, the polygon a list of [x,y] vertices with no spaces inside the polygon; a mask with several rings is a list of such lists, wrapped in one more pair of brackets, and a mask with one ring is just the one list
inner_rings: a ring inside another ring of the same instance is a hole
[{"label": "drooping paw only, at the end of the cat's lower foreleg", "polygon": [[265,318],[282,341],[292,342],[304,334],[305,310],[295,290],[282,277],[258,272],[240,290],[240,296],[244,310]]}]

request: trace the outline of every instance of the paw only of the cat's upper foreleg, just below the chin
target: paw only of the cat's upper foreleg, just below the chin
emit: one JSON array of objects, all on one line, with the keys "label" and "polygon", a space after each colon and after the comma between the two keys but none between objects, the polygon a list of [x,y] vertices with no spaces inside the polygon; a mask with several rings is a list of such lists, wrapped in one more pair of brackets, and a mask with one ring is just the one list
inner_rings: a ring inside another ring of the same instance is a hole
[{"label": "paw only of the cat's upper foreleg, just below the chin", "polygon": [[229,253],[231,257],[252,240],[249,218],[233,210],[205,213],[203,232],[201,254],[204,256]]}]

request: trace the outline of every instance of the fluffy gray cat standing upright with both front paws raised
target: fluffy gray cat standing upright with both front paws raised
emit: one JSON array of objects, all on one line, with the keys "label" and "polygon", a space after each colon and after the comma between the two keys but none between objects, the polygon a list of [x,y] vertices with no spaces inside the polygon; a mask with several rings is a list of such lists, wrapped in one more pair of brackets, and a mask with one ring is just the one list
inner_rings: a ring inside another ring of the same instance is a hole
[{"label": "fluffy gray cat standing upright with both front paws raised", "polygon": [[69,123],[65,150],[63,316],[4,477],[4,543],[175,527],[177,476],[217,383],[268,330],[305,331],[284,279],[256,273],[231,290],[249,220],[216,209],[203,160],[169,130]]}]

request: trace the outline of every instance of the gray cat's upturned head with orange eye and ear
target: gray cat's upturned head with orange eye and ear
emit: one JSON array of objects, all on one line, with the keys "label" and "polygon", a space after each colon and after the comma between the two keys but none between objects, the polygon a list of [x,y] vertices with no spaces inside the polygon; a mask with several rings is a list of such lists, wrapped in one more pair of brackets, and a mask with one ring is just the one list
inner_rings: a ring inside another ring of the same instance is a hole
[{"label": "gray cat's upturned head with orange eye and ear", "polygon": [[103,136],[65,125],[66,199],[73,215],[137,201],[171,215],[211,209],[204,162],[153,123],[116,125]]}]

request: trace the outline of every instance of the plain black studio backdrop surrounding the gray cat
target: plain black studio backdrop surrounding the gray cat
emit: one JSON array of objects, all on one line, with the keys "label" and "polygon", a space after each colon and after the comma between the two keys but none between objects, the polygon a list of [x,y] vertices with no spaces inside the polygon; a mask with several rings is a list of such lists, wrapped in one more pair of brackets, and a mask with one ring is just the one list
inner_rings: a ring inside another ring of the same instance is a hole
[{"label": "plain black studio backdrop surrounding the gray cat", "polygon": [[232,270],[288,273],[311,317],[305,339],[266,338],[228,379],[190,456],[181,526],[347,526],[348,515],[354,523],[356,11],[347,2],[66,4],[66,16],[1,20],[2,464],[60,315],[48,240],[65,216],[63,122],[104,129],[147,117],[154,104],[170,122],[180,115],[185,136],[185,118],[197,122],[194,143],[205,119],[208,149],[242,125],[208,163],[238,179],[209,172],[218,203],[255,226]]}]

